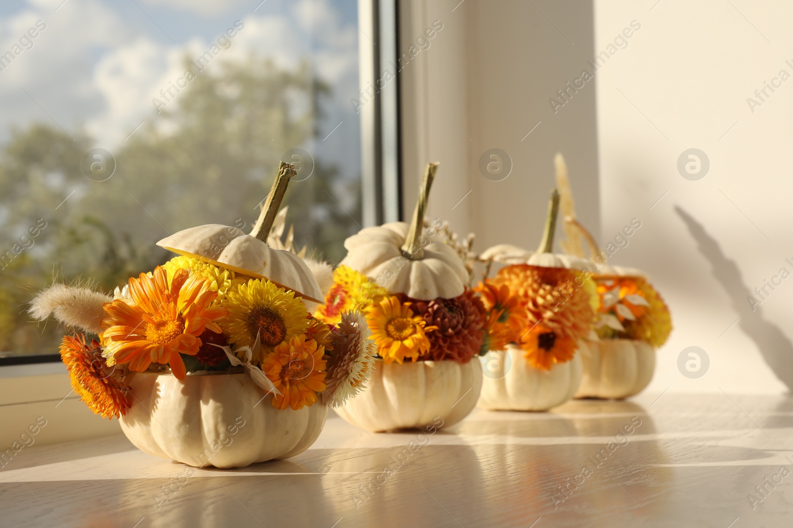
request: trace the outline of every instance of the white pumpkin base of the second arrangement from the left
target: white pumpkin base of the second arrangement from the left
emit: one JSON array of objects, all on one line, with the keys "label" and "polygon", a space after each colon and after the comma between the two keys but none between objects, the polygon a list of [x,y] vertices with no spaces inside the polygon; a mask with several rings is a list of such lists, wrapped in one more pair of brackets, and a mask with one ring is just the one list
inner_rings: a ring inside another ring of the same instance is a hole
[{"label": "white pumpkin base of the second arrangement from the left", "polygon": [[336,408],[344,420],[367,431],[457,424],[477,405],[482,369],[476,359],[385,363],[376,359],[366,389]]}]

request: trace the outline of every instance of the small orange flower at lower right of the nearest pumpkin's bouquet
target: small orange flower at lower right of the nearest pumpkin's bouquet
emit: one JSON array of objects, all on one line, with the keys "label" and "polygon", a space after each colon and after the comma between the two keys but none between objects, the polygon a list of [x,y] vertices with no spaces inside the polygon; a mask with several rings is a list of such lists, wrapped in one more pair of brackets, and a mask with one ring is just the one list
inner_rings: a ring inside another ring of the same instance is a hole
[{"label": "small orange flower at lower right of the nearest pumpkin's bouquet", "polygon": [[325,349],[305,335],[294,336],[289,343],[279,344],[262,362],[262,370],[281,394],[273,395],[273,407],[291,407],[297,411],[316,401],[316,393],[324,391]]}]

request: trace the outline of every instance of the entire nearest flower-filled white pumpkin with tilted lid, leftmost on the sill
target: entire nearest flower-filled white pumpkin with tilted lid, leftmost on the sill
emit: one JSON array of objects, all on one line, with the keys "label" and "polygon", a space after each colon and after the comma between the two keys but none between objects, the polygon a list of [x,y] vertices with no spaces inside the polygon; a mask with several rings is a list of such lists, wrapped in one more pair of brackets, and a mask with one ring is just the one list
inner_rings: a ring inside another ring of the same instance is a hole
[{"label": "entire nearest flower-filled white pumpkin with tilted lid, leftmost on the sill", "polygon": [[305,301],[322,291],[308,265],[265,242],[294,174],[282,163],[251,234],[184,230],[158,243],[179,256],[112,297],[58,284],[34,298],[36,318],[97,336],[63,338],[72,387],[140,450],[220,468],[289,458],[316,440],[328,406],[366,384],[362,315],[313,317]]}]

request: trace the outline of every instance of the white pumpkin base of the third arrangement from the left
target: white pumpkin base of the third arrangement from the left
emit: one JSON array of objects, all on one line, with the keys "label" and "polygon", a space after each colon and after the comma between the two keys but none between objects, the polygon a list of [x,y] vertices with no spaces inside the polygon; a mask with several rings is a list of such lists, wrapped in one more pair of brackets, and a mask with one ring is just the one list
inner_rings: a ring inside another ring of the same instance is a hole
[{"label": "white pumpkin base of the third arrangement from the left", "polygon": [[578,352],[550,370],[531,367],[525,352],[515,344],[505,350],[481,356],[485,378],[479,406],[499,411],[546,411],[573,399],[581,382],[580,354],[587,344],[578,343]]}]

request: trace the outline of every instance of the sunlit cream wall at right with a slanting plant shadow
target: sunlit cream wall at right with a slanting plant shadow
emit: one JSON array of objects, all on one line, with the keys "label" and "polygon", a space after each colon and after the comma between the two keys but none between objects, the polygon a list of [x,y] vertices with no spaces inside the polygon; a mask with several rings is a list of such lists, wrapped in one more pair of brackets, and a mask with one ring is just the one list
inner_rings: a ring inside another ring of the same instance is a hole
[{"label": "sunlit cream wall at right with a slanting plant shadow", "polygon": [[[793,280],[754,312],[746,290],[782,267],[793,272],[784,261],[793,261],[793,80],[768,91],[754,112],[746,99],[780,69],[793,74],[785,63],[793,59],[793,5],[663,0],[653,7],[656,1],[595,2],[596,50],[630,21],[642,25],[596,82],[601,234],[642,219],[615,261],[653,275],[676,327],[649,390],[780,392],[787,386],[775,370],[793,382]],[[711,161],[701,180],[676,168],[691,147]],[[691,345],[711,359],[699,379],[676,366]]]}]

